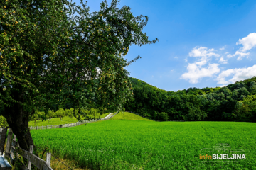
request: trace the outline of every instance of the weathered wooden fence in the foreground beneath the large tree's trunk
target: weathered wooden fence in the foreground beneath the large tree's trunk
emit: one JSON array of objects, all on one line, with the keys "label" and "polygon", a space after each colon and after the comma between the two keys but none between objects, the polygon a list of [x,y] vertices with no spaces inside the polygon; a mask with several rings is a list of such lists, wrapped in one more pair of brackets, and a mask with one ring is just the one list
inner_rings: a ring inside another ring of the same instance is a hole
[{"label": "weathered wooden fence in the foreground beneath the large tree's trunk", "polygon": [[[0,128],[0,131],[2,131],[2,128]],[[2,137],[5,138],[5,136],[6,135],[4,133],[1,134],[1,139],[2,139]],[[22,166],[23,170],[30,170],[31,164],[33,164],[40,170],[53,170],[50,167],[50,153],[46,154],[46,161],[44,161],[43,159],[41,159],[41,158],[37,157],[35,154],[33,154],[33,145],[30,145],[29,151],[22,149],[18,145],[16,135],[13,135],[11,128],[9,128],[6,149],[5,149],[5,154],[4,154],[5,162],[6,162],[6,159],[10,158],[11,164],[14,164],[15,157],[18,157],[19,155],[21,155],[23,158],[28,159],[28,166],[23,165]],[[0,167],[0,169],[3,169],[3,168]]]}]

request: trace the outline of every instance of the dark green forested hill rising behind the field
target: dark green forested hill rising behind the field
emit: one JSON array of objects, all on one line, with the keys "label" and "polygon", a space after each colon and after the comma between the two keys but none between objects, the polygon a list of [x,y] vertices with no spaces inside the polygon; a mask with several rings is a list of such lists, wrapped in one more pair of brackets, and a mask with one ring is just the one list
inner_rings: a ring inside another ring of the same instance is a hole
[{"label": "dark green forested hill rising behind the field", "polygon": [[256,122],[256,77],[223,88],[189,88],[177,92],[129,79],[134,98],[125,103],[124,108],[146,118]]}]

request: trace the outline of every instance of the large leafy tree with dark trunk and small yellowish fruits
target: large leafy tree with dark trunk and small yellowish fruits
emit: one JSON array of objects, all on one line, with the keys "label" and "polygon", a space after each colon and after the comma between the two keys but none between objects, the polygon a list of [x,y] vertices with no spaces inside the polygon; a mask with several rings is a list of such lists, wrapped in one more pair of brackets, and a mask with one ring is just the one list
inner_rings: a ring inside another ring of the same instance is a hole
[{"label": "large leafy tree with dark trunk and small yellowish fruits", "polygon": [[66,0],[0,2],[0,108],[23,149],[33,145],[28,120],[36,111],[67,101],[80,114],[92,101],[121,111],[132,96],[124,67],[139,56],[123,57],[132,43],[157,38],[142,33],[147,16],[118,3],[104,1],[89,13],[82,1],[83,8]]}]

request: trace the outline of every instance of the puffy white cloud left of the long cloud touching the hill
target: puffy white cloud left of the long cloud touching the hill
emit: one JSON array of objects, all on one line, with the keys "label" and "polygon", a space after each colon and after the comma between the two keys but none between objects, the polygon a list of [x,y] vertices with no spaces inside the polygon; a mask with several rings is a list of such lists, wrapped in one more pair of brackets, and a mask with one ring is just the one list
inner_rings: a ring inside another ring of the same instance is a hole
[{"label": "puffy white cloud left of the long cloud touching the hill", "polygon": [[207,68],[201,68],[206,62],[196,62],[188,64],[188,72],[181,75],[181,79],[188,79],[191,84],[198,83],[202,77],[212,77],[213,74],[220,72],[219,64],[208,64]]}]

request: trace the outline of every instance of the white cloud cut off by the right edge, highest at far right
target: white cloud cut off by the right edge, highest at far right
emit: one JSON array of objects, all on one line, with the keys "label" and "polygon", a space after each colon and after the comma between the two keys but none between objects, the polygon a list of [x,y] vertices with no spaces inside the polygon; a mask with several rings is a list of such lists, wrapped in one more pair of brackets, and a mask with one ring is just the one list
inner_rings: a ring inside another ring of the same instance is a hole
[{"label": "white cloud cut off by the right edge, highest at far right", "polygon": [[236,45],[241,44],[243,47],[240,48],[241,52],[246,52],[256,47],[256,33],[250,33],[247,37],[239,39]]}]

